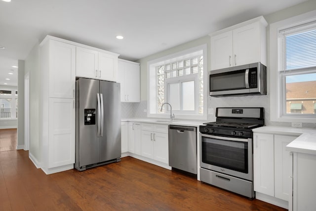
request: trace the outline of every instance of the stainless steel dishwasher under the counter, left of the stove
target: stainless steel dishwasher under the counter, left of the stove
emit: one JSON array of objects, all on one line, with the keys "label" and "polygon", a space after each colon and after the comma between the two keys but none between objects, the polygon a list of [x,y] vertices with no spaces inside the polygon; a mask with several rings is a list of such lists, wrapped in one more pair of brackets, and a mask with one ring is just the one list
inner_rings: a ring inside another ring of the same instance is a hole
[{"label": "stainless steel dishwasher under the counter, left of the stove", "polygon": [[169,166],[197,174],[197,128],[169,126]]}]

